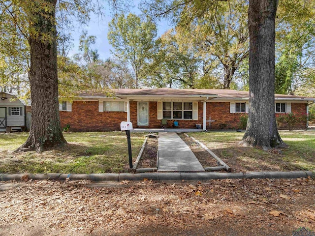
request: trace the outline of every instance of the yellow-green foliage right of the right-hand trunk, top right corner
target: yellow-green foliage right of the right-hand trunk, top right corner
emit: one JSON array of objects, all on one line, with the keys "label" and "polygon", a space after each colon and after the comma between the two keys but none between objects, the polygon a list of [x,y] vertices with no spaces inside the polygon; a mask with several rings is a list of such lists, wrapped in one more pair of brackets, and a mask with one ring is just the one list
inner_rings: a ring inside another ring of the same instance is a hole
[{"label": "yellow-green foliage right of the right-hand trunk, top right corner", "polygon": [[308,86],[315,67],[315,2],[283,0],[276,20],[276,93]]}]

